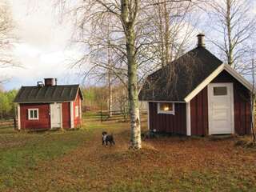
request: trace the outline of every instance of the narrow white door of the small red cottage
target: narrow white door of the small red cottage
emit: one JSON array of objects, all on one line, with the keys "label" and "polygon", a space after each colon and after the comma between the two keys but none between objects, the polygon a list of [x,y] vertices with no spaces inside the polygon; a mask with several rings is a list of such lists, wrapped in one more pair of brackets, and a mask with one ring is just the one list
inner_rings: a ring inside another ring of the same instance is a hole
[{"label": "narrow white door of the small red cottage", "polygon": [[62,126],[62,104],[50,104],[50,126],[51,128],[61,128]]}]

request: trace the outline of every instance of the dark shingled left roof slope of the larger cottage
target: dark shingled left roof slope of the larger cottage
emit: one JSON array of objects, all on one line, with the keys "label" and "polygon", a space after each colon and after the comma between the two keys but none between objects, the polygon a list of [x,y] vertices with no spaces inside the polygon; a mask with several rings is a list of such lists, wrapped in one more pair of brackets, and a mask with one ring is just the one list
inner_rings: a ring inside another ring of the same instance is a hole
[{"label": "dark shingled left roof slope of the larger cottage", "polygon": [[190,50],[146,78],[139,93],[142,101],[178,101],[194,90],[222,64],[204,47]]}]

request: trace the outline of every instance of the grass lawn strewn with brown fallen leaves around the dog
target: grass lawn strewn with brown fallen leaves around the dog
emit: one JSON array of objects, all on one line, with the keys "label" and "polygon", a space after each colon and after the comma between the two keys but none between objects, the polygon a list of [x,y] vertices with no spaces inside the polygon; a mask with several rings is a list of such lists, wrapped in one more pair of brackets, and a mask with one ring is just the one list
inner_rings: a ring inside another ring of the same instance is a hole
[{"label": "grass lawn strewn with brown fallen leaves around the dog", "polygon": [[[256,150],[236,138],[159,137],[134,152],[128,123],[91,114],[84,122],[70,131],[0,129],[0,191],[256,191]],[[116,146],[102,146],[102,130]]]}]

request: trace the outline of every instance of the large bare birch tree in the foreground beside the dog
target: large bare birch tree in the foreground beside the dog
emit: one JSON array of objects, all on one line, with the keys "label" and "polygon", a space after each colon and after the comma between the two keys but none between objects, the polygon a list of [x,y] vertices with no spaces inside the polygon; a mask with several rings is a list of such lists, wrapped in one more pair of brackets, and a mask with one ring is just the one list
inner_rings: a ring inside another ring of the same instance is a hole
[{"label": "large bare birch tree in the foreground beside the dog", "polygon": [[[152,28],[154,15],[149,13],[154,6],[171,2],[190,1],[88,0],[78,3],[72,10],[77,16],[76,40],[78,44],[86,45],[89,52],[76,64],[90,63],[90,70],[86,71],[86,75],[106,74],[106,71],[111,71],[115,78],[127,86],[130,142],[131,148],[135,150],[142,147],[138,82],[147,71],[158,66],[158,50],[155,49],[157,42],[154,41],[155,31]],[[62,1],[62,5],[63,3],[65,1]],[[106,31],[109,32],[108,35]],[[109,49],[111,65],[106,59]]]}]

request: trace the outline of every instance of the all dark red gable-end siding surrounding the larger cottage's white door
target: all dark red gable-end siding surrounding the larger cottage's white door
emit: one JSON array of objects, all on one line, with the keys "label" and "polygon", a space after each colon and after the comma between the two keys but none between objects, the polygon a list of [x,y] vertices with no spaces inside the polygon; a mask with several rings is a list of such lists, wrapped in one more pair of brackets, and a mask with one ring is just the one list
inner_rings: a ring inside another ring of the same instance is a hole
[{"label": "all dark red gable-end siding surrounding the larger cottage's white door", "polygon": [[[234,85],[234,131],[236,134],[250,134],[250,94],[240,82],[225,70],[212,82],[233,82]],[[190,101],[191,134],[208,134],[207,87]]]}]

